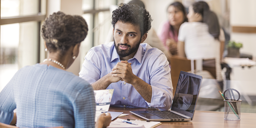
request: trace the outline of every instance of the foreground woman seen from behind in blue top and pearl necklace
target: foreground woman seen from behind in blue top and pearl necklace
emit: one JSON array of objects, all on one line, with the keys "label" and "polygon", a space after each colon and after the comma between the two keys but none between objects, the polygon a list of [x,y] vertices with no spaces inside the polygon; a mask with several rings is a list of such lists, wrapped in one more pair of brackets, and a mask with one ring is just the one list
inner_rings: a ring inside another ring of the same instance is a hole
[{"label": "foreground woman seen from behind in blue top and pearl necklace", "polygon": [[2,90],[0,122],[17,122],[20,128],[103,128],[110,124],[109,113],[101,114],[95,124],[92,86],[66,71],[78,56],[87,31],[86,21],[78,15],[57,12],[44,21],[41,32],[49,56],[20,69]]}]

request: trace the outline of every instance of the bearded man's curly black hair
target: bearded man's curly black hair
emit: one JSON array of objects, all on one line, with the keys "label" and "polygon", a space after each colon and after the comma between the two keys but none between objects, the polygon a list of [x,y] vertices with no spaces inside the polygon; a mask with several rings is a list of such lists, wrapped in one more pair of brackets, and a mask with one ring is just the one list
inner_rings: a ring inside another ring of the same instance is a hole
[{"label": "bearded man's curly black hair", "polygon": [[129,3],[121,3],[118,9],[114,10],[112,13],[111,23],[114,28],[117,21],[139,25],[141,36],[148,33],[148,30],[151,29],[151,16],[143,7]]}]

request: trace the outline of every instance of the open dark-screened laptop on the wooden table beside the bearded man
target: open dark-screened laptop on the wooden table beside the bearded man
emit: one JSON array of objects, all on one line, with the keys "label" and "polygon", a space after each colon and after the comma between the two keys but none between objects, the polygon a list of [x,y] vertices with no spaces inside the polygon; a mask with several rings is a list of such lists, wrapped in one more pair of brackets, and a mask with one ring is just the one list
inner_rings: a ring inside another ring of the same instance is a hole
[{"label": "open dark-screened laptop on the wooden table beside the bearded man", "polygon": [[130,111],[150,121],[190,121],[195,113],[202,76],[180,71],[171,111]]}]

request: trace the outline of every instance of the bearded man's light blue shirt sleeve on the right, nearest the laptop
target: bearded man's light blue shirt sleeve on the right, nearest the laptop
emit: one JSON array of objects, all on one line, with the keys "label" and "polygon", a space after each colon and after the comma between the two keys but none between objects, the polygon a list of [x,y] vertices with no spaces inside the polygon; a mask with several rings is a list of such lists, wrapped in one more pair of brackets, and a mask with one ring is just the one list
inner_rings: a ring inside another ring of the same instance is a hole
[{"label": "bearded man's light blue shirt sleeve on the right, nearest the laptop", "polygon": [[163,53],[152,62],[150,85],[152,87],[151,103],[149,106],[160,110],[169,110],[172,105],[172,79],[169,63]]}]

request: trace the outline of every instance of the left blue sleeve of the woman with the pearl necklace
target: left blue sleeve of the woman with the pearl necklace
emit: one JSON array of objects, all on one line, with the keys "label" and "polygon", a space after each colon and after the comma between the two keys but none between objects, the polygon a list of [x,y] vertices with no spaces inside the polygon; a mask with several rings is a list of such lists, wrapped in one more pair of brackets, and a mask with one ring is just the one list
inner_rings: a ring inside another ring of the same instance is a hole
[{"label": "left blue sleeve of the woman with the pearl necklace", "polygon": [[13,93],[14,79],[15,76],[0,93],[0,122],[8,125],[12,122],[14,116],[13,110],[16,108]]}]

